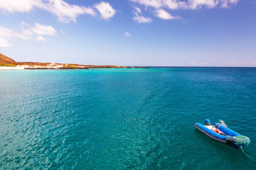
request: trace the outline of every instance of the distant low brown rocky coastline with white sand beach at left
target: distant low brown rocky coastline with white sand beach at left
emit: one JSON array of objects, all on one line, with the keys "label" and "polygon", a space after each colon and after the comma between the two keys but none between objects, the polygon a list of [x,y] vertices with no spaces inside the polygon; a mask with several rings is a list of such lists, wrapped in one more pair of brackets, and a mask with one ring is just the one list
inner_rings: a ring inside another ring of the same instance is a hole
[{"label": "distant low brown rocky coastline with white sand beach at left", "polygon": [[89,69],[89,68],[147,68],[147,67],[126,67],[116,65],[79,65],[61,64],[51,62],[16,62],[0,53],[0,69]]}]

